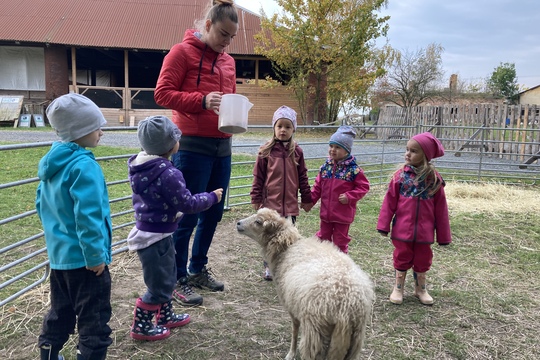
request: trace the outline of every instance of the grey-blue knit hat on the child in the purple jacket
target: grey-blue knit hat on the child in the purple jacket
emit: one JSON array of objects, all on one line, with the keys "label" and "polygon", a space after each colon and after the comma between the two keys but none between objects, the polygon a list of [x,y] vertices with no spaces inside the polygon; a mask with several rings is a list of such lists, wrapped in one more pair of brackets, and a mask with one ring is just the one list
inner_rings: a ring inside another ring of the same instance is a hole
[{"label": "grey-blue knit hat on the child in the purple jacket", "polygon": [[182,132],[166,116],[150,116],[139,123],[137,136],[148,155],[163,155],[180,140]]}]

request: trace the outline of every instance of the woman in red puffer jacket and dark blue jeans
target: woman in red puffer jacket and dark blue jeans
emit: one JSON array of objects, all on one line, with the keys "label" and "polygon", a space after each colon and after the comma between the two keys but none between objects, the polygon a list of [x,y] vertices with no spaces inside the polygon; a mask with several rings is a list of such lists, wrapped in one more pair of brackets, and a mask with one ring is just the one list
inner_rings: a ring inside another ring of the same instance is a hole
[{"label": "woman in red puffer jacket and dark blue jeans", "polygon": [[[223,188],[223,198],[231,176],[231,135],[218,129],[221,96],[236,92],[234,59],[225,49],[238,31],[238,12],[233,0],[214,0],[198,29],[186,30],[184,40],[165,56],[156,85],[156,103],[173,110],[173,122],[182,131],[174,165],[182,171],[193,194]],[[208,190],[212,189],[212,190]],[[174,233],[177,287],[174,298],[182,305],[201,305],[203,298],[192,286],[223,291],[208,263],[208,249],[224,202],[198,214],[184,215]],[[193,240],[187,268],[189,240]]]}]

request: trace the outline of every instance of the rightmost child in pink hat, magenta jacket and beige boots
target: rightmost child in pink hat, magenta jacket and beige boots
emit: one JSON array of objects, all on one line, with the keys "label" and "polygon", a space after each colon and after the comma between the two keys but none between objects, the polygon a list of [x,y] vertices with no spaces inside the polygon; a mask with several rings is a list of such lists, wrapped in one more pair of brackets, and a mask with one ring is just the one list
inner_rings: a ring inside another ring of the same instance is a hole
[{"label": "rightmost child in pink hat, magenta jacket and beige boots", "polygon": [[[405,275],[412,268],[414,295],[424,305],[433,298],[426,290],[426,272],[433,260],[435,234],[439,245],[452,241],[444,180],[431,163],[444,155],[444,148],[429,132],[407,142],[405,163],[394,173],[383,200],[377,230],[394,245],[395,286],[390,302],[403,302]],[[392,224],[392,225],[391,225]]]}]

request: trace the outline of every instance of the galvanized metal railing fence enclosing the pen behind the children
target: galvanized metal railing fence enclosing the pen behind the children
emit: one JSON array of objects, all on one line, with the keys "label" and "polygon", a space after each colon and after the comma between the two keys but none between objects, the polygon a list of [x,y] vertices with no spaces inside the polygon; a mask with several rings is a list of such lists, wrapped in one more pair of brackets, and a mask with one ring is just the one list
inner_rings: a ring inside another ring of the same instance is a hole
[{"label": "galvanized metal railing fence enclosing the pen behind the children", "polygon": [[[355,125],[358,129],[358,133],[362,130],[369,131],[366,136],[355,140],[353,146],[354,155],[358,159],[358,163],[364,168],[364,172],[372,186],[386,186],[388,184],[389,177],[397,167],[403,163],[403,155],[405,152],[405,145],[408,137],[398,136],[380,136],[381,134],[396,134],[396,131],[401,131],[406,134],[414,134],[423,131],[430,130],[434,134],[440,134],[439,138],[446,148],[446,155],[443,158],[436,159],[435,164],[439,172],[443,175],[447,182],[449,181],[468,181],[468,182],[481,182],[481,181],[498,181],[508,184],[518,185],[534,185],[540,180],[540,166],[538,165],[538,158],[534,158],[539,154],[540,149],[540,129],[538,126],[523,126],[519,129],[512,129],[508,139],[504,139],[504,146],[501,146],[500,136],[505,131],[509,131],[504,125],[497,123],[496,127],[489,126],[474,126],[469,125],[469,121],[465,121],[462,126],[455,124],[449,125],[433,125],[426,124],[421,121],[416,122],[410,126],[400,125]],[[325,140],[323,141],[300,141],[299,145],[304,149],[304,154],[309,153],[309,149],[317,148],[327,149],[328,141],[326,137],[329,137],[329,132],[333,132],[338,126],[302,126],[298,127],[298,131],[306,132],[320,132]],[[271,127],[269,126],[250,126],[250,129],[264,129],[271,134]],[[136,131],[136,127],[116,127],[106,128],[106,131]],[[474,139],[470,139],[470,135],[478,131],[478,136]],[[493,133],[496,132],[496,136]],[[449,135],[461,134],[462,136],[453,137]],[[470,141],[469,141],[470,140]],[[460,149],[463,144],[469,141],[468,144],[475,145],[474,147],[464,147]],[[233,161],[233,169],[244,169],[244,173],[237,174],[231,177],[231,185],[227,191],[225,199],[226,209],[230,209],[235,206],[247,206],[250,204],[249,191],[252,183],[252,168],[255,164],[255,153],[253,149],[258,149],[262,144],[250,143],[250,144],[234,144],[233,155],[238,157],[239,161]],[[36,147],[48,147],[52,142],[40,142],[40,143],[28,143],[28,144],[13,144],[13,145],[1,145],[0,151],[8,150],[24,150]],[[252,160],[245,160],[239,155],[246,154],[245,149],[251,148],[252,151],[247,154],[252,157]],[[488,149],[488,151],[486,151]],[[509,153],[511,151],[511,153]],[[325,153],[325,152],[324,152]],[[124,159],[131,156],[115,155],[105,156],[97,158],[100,162],[107,162],[117,159]],[[319,165],[313,165],[309,168],[308,176],[312,183],[315,178],[318,167],[322,165],[326,159],[326,155],[306,155],[305,159],[310,164],[318,163]],[[526,163],[527,160],[531,160]],[[37,183],[39,179],[32,177],[28,179],[19,179],[7,183],[0,184],[0,190],[6,191],[7,189],[16,189],[19,186]],[[128,183],[128,179],[117,179],[107,182],[107,186],[110,188],[116,185],[122,185]],[[131,205],[131,195],[119,196],[110,199],[111,206],[115,205],[115,212],[111,214],[114,219],[120,221],[119,224],[113,226],[113,236],[116,240],[113,243],[113,254],[119,254],[127,251],[127,240],[125,236],[119,236],[119,231],[122,229],[131,227],[135,224],[133,218],[129,221],[123,220],[122,217],[129,216],[133,213]],[[31,204],[30,207],[34,205]],[[7,226],[15,221],[27,221],[32,219],[36,215],[35,210],[29,210],[7,216],[0,219],[0,226]],[[1,231],[3,237],[5,232]],[[30,291],[32,288],[43,283],[49,275],[49,263],[46,259],[46,249],[43,244],[37,243],[43,238],[43,232],[26,237],[25,239],[7,239],[7,244],[0,249],[2,254],[2,261],[6,263],[0,263],[0,276],[1,284],[0,290],[6,293],[8,286],[14,286],[18,283],[22,283],[21,289],[9,293],[7,297],[0,300],[0,306],[13,301],[22,294]],[[120,239],[118,239],[120,238]],[[6,239],[4,238],[4,241]],[[15,255],[10,255],[15,252]],[[20,254],[19,254],[20,253]],[[15,257],[14,257],[15,256]],[[36,264],[37,262],[37,264]],[[28,263],[28,264],[26,264]],[[18,266],[26,265],[20,273],[9,275],[6,278],[5,273],[10,269],[16,269]],[[39,277],[35,279],[35,275],[38,271]]]}]

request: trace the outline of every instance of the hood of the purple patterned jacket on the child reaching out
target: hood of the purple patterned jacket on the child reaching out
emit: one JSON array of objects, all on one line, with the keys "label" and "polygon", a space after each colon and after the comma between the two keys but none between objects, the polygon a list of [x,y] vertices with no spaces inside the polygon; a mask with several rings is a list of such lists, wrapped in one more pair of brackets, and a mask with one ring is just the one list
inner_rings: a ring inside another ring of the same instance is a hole
[{"label": "hood of the purple patterned jacket on the child reaching out", "polygon": [[129,182],[135,194],[143,193],[161,173],[170,165],[170,161],[157,155],[140,152],[128,160]]}]

